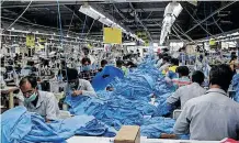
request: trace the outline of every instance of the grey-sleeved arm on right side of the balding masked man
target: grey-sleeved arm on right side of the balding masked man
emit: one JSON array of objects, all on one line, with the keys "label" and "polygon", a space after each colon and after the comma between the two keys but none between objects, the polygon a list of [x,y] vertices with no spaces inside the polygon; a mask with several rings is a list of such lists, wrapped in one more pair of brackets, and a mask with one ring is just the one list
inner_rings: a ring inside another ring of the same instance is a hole
[{"label": "grey-sleeved arm on right side of the balding masked man", "polygon": [[56,120],[59,113],[59,107],[56,97],[50,94],[50,98],[46,105],[46,121]]}]

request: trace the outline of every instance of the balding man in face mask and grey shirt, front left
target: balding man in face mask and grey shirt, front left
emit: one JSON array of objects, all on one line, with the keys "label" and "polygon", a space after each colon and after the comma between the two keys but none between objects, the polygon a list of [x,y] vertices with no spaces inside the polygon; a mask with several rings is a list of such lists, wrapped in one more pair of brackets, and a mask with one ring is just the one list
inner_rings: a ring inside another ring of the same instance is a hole
[{"label": "balding man in face mask and grey shirt, front left", "polygon": [[41,114],[46,122],[58,118],[59,107],[56,97],[52,92],[38,90],[35,77],[26,76],[19,85],[24,97],[24,102],[20,105],[23,105],[27,111]]}]

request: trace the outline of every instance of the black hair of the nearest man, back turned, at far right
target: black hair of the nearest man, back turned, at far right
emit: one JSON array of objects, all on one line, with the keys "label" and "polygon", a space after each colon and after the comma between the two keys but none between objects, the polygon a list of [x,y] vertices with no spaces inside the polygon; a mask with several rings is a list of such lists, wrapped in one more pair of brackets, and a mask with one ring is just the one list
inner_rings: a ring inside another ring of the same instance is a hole
[{"label": "black hair of the nearest man, back turned, at far right", "polygon": [[218,85],[225,91],[228,90],[231,79],[234,77],[234,72],[229,65],[221,64],[212,67],[209,73],[209,84]]}]

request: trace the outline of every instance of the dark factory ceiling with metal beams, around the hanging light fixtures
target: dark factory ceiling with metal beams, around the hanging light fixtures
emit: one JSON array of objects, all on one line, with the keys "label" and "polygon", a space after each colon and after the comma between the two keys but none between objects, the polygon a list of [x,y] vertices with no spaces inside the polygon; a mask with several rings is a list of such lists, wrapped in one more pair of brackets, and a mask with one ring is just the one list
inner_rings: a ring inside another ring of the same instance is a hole
[{"label": "dark factory ceiling with metal beams, around the hanging light fixtures", "polygon": [[[127,30],[134,33],[145,32],[148,34],[148,38],[159,42],[164,9],[170,1],[59,1],[62,29],[66,33],[75,32],[75,35],[79,34],[79,36],[89,33],[89,38],[102,41],[102,23],[79,12],[82,4],[89,4]],[[1,4],[1,25],[3,29],[8,28],[30,2],[3,1]],[[179,40],[180,37],[198,40],[239,29],[239,2],[237,1],[197,1],[193,4],[184,1],[180,3],[183,11],[173,24],[169,35],[170,40]],[[60,26],[58,15],[57,1],[32,1],[15,24],[23,25],[25,30],[57,30]],[[127,41],[128,36],[124,35],[124,40]]]}]

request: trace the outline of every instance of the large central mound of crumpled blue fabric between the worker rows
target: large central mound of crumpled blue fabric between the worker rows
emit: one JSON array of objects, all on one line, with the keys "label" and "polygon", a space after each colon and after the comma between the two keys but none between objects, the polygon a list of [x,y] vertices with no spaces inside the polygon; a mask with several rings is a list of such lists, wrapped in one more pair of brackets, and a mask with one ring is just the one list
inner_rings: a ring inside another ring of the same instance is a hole
[{"label": "large central mound of crumpled blue fabric between the worker rows", "polygon": [[[110,84],[114,90],[100,90],[99,98],[68,95],[69,111],[94,116],[116,130],[123,124],[140,125],[143,136],[159,138],[161,133],[172,133],[174,120],[161,118],[169,112],[166,99],[172,88],[152,65],[152,62],[146,62],[127,77],[114,79]],[[155,105],[149,103],[152,96],[156,97]]]}]

